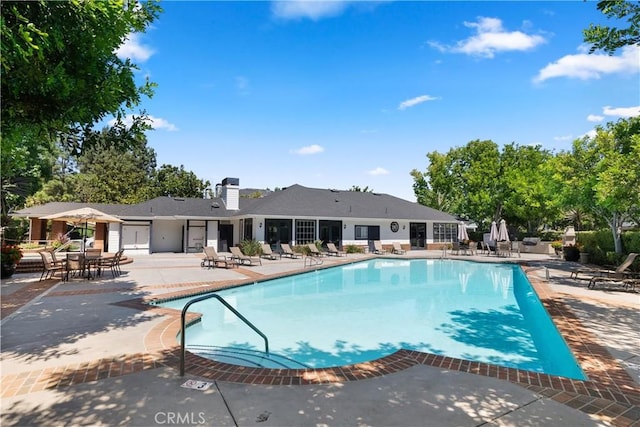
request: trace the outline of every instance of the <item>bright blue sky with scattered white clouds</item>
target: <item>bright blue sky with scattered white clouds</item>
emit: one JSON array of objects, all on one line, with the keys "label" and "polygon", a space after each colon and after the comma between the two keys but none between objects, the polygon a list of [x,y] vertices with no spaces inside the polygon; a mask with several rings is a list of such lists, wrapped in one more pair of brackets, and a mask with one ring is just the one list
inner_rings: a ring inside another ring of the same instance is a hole
[{"label": "bright blue sky with scattered white clouds", "polygon": [[412,169],[469,141],[563,150],[640,115],[640,48],[588,1],[163,2],[119,55],[158,83],[158,164],[242,188],[369,187],[414,201]]}]

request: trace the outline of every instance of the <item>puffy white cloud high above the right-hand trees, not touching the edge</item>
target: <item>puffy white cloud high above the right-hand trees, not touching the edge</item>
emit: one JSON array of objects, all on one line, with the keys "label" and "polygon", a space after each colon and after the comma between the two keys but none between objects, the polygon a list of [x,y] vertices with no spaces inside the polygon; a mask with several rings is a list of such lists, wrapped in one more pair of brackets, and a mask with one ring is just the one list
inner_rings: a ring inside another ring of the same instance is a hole
[{"label": "puffy white cloud high above the right-hand trees, not touching the edge", "polygon": [[466,55],[493,58],[498,52],[524,51],[546,43],[544,37],[526,34],[522,31],[506,31],[498,18],[478,17],[477,22],[465,22],[464,25],[476,30],[476,35],[457,42],[454,46],[446,46],[439,42],[429,45],[442,51],[464,53]]}]

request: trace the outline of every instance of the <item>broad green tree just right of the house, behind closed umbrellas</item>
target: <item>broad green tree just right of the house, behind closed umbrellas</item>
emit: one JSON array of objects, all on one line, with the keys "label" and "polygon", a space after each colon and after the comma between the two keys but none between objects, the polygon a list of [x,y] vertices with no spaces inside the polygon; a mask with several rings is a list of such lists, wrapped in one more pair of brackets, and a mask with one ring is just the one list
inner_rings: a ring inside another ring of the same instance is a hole
[{"label": "broad green tree just right of the house, behind closed umbrellas", "polygon": [[411,172],[421,204],[484,228],[504,218],[531,232],[560,213],[560,203],[546,184],[552,169],[545,165],[552,154],[539,146],[509,144],[500,151],[493,141],[476,140],[427,157],[425,173]]}]

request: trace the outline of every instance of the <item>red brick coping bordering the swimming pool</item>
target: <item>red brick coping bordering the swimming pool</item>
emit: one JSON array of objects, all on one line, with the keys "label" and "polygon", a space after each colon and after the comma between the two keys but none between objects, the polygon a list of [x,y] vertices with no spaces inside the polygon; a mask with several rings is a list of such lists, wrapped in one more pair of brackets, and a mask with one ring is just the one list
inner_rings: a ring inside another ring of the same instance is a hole
[{"label": "red brick coping bordering the swimming pool", "polygon": [[[384,257],[378,257],[384,258]],[[397,259],[397,258],[394,258]],[[427,258],[428,259],[428,258]],[[359,262],[351,261],[351,262]],[[305,385],[358,381],[403,371],[415,365],[426,365],[440,369],[466,372],[497,378],[521,385],[557,402],[566,404],[589,414],[615,420],[617,425],[629,425],[640,420],[640,386],[631,378],[606,347],[598,343],[595,335],[582,325],[580,319],[563,302],[563,297],[533,274],[535,268],[527,261],[505,260],[520,265],[533,286],[536,294],[552,318],[563,339],[576,357],[587,380],[575,380],[560,376],[542,374],[517,368],[452,358],[432,353],[401,349],[391,355],[354,365],[321,369],[271,369],[252,368],[209,360],[186,352],[186,372],[203,379],[228,381],[242,384],[262,385]],[[482,261],[473,261],[482,262]],[[318,266],[315,270],[332,268],[336,265]],[[311,270],[306,270],[311,271]],[[149,305],[150,302],[165,301],[185,296],[196,296],[213,290],[244,286],[267,281],[300,271],[278,273],[265,276],[261,280],[247,279],[241,282],[222,283],[210,288],[198,288],[197,292],[182,291],[153,298],[128,300],[118,305],[126,305],[142,310],[160,310],[168,318],[145,337],[147,349],[161,353],[179,362],[180,347],[176,337],[180,332],[180,312],[173,309]],[[189,316],[188,322],[196,321],[197,315]]]}]

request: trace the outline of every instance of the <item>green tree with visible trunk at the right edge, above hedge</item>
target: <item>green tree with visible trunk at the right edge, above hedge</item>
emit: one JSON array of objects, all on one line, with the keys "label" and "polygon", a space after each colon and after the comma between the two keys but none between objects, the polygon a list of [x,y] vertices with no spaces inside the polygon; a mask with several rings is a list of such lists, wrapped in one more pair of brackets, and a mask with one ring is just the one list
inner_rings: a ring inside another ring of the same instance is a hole
[{"label": "green tree with visible trunk at the right edge, above hedge", "polygon": [[622,253],[622,224],[640,211],[640,117],[598,126],[595,136],[574,141],[555,163],[567,207],[606,221],[615,250]]}]

